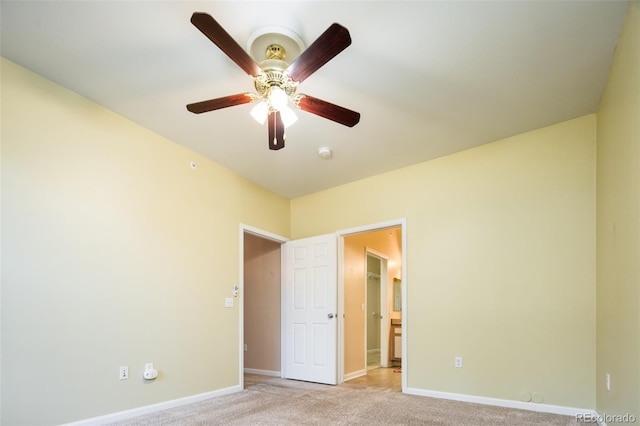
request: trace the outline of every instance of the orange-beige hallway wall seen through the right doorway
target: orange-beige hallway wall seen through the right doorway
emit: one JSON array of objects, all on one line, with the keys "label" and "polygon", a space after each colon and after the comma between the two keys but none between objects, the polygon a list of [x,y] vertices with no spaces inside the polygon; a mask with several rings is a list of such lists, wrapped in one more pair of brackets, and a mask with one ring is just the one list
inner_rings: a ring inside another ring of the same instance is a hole
[{"label": "orange-beige hallway wall seen through the right doorway", "polygon": [[401,229],[394,227],[344,237],[344,374],[349,375],[367,368],[365,361],[365,265],[366,249],[370,248],[388,257],[387,299],[388,311],[383,315],[399,317],[392,312],[393,278],[402,274]]}]

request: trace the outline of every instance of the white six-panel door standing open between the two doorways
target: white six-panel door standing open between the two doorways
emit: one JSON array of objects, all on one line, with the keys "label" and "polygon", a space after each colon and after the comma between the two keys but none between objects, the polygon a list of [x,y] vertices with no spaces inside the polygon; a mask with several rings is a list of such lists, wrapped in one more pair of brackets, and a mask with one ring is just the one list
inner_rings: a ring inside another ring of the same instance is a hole
[{"label": "white six-panel door standing open between the two doorways", "polygon": [[285,249],[283,376],[337,384],[337,237],[289,241]]}]

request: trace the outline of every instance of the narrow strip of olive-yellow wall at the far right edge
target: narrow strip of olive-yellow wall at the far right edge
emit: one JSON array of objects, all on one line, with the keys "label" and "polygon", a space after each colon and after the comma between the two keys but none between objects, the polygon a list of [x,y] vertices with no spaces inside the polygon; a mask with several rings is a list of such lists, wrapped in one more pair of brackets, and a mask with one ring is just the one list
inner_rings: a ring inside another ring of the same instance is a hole
[{"label": "narrow strip of olive-yellow wall at the far right edge", "polygon": [[[598,111],[598,412],[640,421],[640,2],[631,3]],[[606,389],[606,375],[611,390]],[[612,422],[610,422],[612,423]]]}]

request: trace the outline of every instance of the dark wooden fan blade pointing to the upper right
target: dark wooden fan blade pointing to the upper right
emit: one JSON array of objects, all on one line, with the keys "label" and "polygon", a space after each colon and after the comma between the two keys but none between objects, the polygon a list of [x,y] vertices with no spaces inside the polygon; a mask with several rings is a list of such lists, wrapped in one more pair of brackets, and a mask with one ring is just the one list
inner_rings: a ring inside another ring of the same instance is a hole
[{"label": "dark wooden fan blade pointing to the upper right", "polygon": [[287,74],[293,81],[304,81],[350,44],[349,30],[340,24],[332,24],[289,65]]}]

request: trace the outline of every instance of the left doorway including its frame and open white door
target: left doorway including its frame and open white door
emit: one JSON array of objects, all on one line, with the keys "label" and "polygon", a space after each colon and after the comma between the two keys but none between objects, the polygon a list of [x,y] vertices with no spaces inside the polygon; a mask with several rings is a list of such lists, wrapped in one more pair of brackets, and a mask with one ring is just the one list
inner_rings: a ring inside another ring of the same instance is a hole
[{"label": "left doorway including its frame and open white door", "polygon": [[288,241],[241,225],[244,375],[337,384],[337,235]]}]

